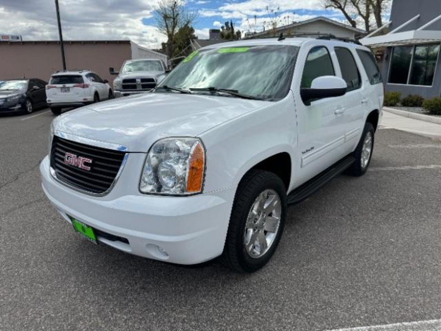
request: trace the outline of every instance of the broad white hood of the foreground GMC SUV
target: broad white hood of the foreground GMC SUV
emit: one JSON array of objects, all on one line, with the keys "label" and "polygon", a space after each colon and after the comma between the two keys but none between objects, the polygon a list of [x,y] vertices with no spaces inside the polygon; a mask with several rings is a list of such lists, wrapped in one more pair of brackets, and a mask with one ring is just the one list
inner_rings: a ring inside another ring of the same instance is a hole
[{"label": "broad white hood of the foreground GMC SUV", "polygon": [[147,152],[158,139],[197,136],[270,102],[201,94],[147,93],[72,110],[55,130]]}]

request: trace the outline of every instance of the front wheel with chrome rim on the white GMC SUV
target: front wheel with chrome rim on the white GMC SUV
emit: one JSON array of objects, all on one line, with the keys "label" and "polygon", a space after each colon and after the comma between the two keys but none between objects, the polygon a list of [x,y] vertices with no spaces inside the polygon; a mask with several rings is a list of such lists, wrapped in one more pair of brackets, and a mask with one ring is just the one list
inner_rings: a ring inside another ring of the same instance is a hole
[{"label": "front wheel with chrome rim on the white GMC SUV", "polygon": [[236,192],[221,260],[238,272],[262,268],[273,256],[287,211],[286,188],[274,173],[253,170]]}]

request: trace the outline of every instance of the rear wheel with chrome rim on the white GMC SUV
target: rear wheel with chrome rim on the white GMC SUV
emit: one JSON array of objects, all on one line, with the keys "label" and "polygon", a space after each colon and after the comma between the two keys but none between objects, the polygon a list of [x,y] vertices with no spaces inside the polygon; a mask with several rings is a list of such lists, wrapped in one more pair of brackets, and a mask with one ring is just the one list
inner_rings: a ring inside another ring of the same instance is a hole
[{"label": "rear wheel with chrome rim on the white GMC SUV", "polygon": [[360,142],[353,154],[355,162],[346,170],[348,175],[359,177],[366,173],[374,152],[374,135],[374,127],[371,123],[366,122]]}]

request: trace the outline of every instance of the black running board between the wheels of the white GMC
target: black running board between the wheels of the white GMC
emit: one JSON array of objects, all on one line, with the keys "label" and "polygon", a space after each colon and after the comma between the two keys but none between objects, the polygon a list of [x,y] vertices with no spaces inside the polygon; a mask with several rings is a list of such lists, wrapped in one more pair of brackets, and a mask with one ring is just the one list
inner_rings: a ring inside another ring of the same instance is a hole
[{"label": "black running board between the wheels of the white GMC", "polygon": [[319,173],[317,176],[311,178],[305,184],[300,185],[294,191],[289,193],[288,204],[291,205],[302,202],[323,185],[328,183],[331,179],[342,173],[344,170],[348,169],[351,164],[354,163],[354,161],[355,158],[352,156],[352,154],[350,154],[347,157],[342,158],[339,162],[334,163],[328,169]]}]

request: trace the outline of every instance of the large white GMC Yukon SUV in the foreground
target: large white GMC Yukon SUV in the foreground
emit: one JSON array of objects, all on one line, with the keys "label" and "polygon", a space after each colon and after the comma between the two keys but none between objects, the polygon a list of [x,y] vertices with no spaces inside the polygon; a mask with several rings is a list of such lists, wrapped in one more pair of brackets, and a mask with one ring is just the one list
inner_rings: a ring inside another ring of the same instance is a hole
[{"label": "large white GMC Yukon SUV in the foreground", "polygon": [[382,104],[374,57],[355,42],[212,45],[151,93],[56,118],[42,186],[94,243],[251,272],[276,250],[288,204],[366,172]]}]

